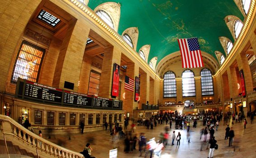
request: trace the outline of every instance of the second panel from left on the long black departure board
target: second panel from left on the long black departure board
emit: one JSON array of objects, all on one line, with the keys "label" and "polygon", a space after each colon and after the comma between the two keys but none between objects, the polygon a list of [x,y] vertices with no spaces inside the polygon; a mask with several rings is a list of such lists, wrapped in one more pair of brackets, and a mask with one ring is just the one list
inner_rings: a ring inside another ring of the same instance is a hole
[{"label": "second panel from left on the long black departure board", "polygon": [[88,95],[64,90],[64,104],[91,106],[92,98]]}]

